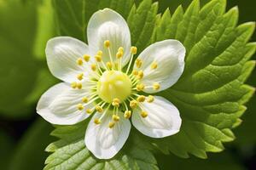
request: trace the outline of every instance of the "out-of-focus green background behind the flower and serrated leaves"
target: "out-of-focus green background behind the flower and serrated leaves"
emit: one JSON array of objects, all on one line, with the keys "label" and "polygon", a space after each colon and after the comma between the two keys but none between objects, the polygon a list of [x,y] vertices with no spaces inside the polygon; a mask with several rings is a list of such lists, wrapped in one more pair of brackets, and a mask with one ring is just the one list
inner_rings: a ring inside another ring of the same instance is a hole
[{"label": "out-of-focus green background behind the flower and serrated leaves", "polygon": [[[159,12],[168,7],[174,11],[179,4],[186,8],[191,1],[159,0]],[[255,0],[228,0],[227,8],[236,5],[240,23],[256,20]],[[44,56],[47,40],[57,34],[50,0],[0,0],[0,169],[44,167],[48,156],[44,149],[55,139],[49,136],[53,127],[38,116],[35,106],[40,95],[58,82],[50,75]],[[255,33],[251,41],[256,41]],[[253,87],[255,75],[253,71],[247,81]],[[243,123],[234,130],[237,139],[225,144],[224,152],[209,154],[207,160],[159,154],[160,169],[256,169],[255,113],[253,97]]]}]

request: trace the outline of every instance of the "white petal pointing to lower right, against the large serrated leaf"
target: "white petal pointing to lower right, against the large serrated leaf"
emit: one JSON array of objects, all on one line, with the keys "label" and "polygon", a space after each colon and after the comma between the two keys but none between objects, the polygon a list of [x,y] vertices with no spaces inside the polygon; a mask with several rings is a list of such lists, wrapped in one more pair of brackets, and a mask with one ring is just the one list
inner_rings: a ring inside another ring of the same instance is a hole
[{"label": "white petal pointing to lower right, against the large serrated leaf", "polygon": [[143,118],[140,109],[137,109],[131,117],[138,131],[152,138],[163,138],[179,131],[182,120],[179,111],[170,101],[154,96],[153,103],[144,102],[142,105],[148,116]]}]

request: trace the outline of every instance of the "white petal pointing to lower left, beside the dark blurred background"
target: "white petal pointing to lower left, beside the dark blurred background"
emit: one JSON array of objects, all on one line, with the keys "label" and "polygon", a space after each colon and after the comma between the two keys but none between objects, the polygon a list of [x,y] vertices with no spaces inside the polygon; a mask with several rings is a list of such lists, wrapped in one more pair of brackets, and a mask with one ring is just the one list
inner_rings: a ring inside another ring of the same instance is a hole
[{"label": "white petal pointing to lower left, beside the dark blurred background", "polygon": [[[84,96],[89,96],[86,89],[73,89],[67,83],[61,82],[49,88],[38,101],[37,112],[47,122],[58,125],[73,125],[81,122],[89,115],[79,111],[77,106]],[[92,105],[84,105],[91,108]]]}]

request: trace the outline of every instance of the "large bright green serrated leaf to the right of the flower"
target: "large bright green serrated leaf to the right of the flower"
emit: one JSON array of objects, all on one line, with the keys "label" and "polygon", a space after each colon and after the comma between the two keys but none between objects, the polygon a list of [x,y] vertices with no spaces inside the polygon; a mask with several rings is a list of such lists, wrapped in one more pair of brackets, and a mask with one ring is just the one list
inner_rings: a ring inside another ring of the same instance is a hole
[{"label": "large bright green serrated leaf to the right of the flower", "polygon": [[181,7],[172,17],[166,11],[157,26],[155,41],[178,39],[187,50],[183,76],[160,93],[180,111],[181,130],[165,139],[145,139],[164,153],[207,158],[207,151],[224,150],[222,143],[235,139],[230,129],[241,123],[254,91],[244,82],[254,68],[248,59],[256,46],[247,41],[255,23],[236,26],[238,9],[224,13],[225,4],[212,0],[200,9],[195,0],[184,14]]}]

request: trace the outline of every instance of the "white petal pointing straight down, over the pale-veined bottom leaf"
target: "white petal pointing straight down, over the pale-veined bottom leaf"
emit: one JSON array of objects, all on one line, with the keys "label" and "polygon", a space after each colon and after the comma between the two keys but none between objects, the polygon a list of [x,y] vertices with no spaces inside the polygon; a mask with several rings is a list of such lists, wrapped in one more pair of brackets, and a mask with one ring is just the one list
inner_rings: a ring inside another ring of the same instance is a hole
[{"label": "white petal pointing straight down, over the pale-veined bottom leaf", "polygon": [[131,123],[119,112],[120,120],[116,122],[113,128],[108,127],[112,122],[112,111],[107,112],[103,117],[101,124],[96,125],[94,119],[102,116],[96,113],[87,127],[85,133],[85,145],[94,156],[99,159],[110,159],[115,156],[128,139]]}]

